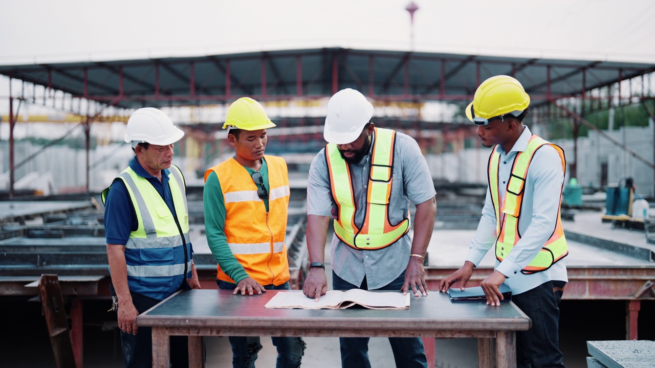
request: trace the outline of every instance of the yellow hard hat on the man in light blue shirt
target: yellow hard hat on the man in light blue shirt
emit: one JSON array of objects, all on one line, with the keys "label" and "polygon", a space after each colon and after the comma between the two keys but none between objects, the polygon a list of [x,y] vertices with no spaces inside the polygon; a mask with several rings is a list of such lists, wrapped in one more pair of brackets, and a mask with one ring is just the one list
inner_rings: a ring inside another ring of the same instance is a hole
[{"label": "yellow hard hat on the man in light blue shirt", "polygon": [[466,117],[476,125],[487,125],[506,114],[517,117],[529,105],[530,96],[519,81],[509,75],[496,75],[477,87],[473,102],[466,107]]}]

